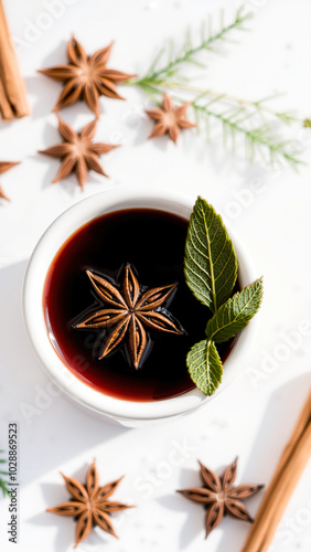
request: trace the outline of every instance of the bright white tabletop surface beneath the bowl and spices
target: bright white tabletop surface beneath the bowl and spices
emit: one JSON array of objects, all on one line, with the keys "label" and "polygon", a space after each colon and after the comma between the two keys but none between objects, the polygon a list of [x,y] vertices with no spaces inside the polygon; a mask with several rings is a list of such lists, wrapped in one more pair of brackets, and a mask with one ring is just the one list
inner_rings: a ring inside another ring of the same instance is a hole
[{"label": "bright white tabletop surface beneath the bowl and spices", "polygon": [[[98,141],[122,144],[103,157],[111,178],[90,173],[84,195],[74,177],[50,184],[58,162],[36,150],[58,141],[56,119],[50,110],[61,86],[36,70],[66,62],[65,44],[73,32],[89,53],[115,40],[109,65],[141,74],[164,40],[182,41],[186,24],[197,28],[208,11],[217,14],[221,3],[228,18],[235,8],[235,2],[206,0],[68,3],[72,6],[63,2],[63,13],[53,19],[50,29],[20,47],[32,116],[0,123],[1,160],[22,161],[1,177],[12,202],[0,206],[0,444],[7,446],[8,422],[18,421],[21,492],[18,545],[8,544],[8,503],[0,502],[0,549],[72,550],[73,521],[44,511],[67,499],[58,471],[83,480],[96,457],[100,482],[126,474],[116,497],[138,508],[115,517],[119,541],[94,531],[79,545],[82,552],[238,552],[247,523],[226,518],[205,541],[203,509],[174,490],[199,484],[197,458],[221,471],[236,455],[237,482],[268,484],[296,423],[310,386],[311,340],[300,337],[297,346],[283,346],[301,320],[311,320],[311,166],[302,167],[299,174],[288,168],[271,172],[259,164],[249,167],[226,153],[221,140],[206,146],[192,131],[183,134],[178,147],[165,139],[147,141],[152,125],[141,115],[146,98],[136,89],[121,88],[127,102],[100,99],[96,135]],[[310,3],[253,0],[248,4],[255,4],[256,13],[249,24],[251,32],[235,34],[237,44],[228,47],[227,55],[207,54],[206,86],[250,99],[287,92],[277,105],[310,117]],[[42,0],[4,0],[4,7],[19,43],[30,25],[37,29],[46,12]],[[77,129],[93,118],[84,104],[64,109],[62,116]],[[303,144],[308,162],[310,134],[298,125],[292,135]],[[254,179],[262,184],[261,193],[253,191],[245,202],[245,190],[251,189]],[[201,193],[212,202],[251,251],[258,276],[265,275],[265,302],[256,347],[228,391],[205,411],[181,421],[129,431],[94,418],[63,396],[51,397],[49,380],[23,329],[21,287],[31,251],[55,216],[83,197],[135,184],[161,184],[187,191],[193,198]],[[240,192],[243,197],[237,199]],[[282,354],[286,358],[280,360]],[[271,373],[267,373],[269,368]],[[26,407],[36,408],[31,420],[23,415]],[[172,457],[180,466],[172,467]],[[309,465],[271,551],[310,550],[310,478]],[[247,505],[254,514],[261,496]]]}]

